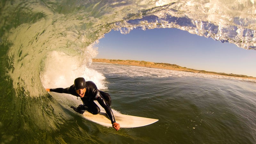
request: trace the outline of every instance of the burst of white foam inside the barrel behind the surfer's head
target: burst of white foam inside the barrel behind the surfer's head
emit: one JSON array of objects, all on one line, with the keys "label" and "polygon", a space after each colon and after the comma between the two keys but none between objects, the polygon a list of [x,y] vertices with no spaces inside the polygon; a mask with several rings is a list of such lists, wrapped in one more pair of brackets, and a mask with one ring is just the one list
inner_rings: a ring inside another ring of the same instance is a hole
[{"label": "burst of white foam inside the barrel behind the surfer's head", "polygon": [[86,81],[93,81],[99,89],[106,89],[105,77],[87,68],[84,59],[79,56],[69,56],[64,52],[49,52],[44,60],[44,71],[41,72],[41,81],[45,88],[69,87],[74,79],[84,77]]}]

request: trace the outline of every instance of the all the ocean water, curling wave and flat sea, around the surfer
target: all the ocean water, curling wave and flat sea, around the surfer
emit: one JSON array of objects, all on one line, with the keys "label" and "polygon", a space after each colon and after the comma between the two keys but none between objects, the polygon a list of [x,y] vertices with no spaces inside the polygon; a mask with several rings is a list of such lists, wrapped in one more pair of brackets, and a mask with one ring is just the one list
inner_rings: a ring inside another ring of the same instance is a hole
[{"label": "all the ocean water, curling wave and flat sea, around the surfer", "polygon": [[[12,0],[0,2],[0,142],[256,143],[256,82],[94,63],[112,29],[178,28],[256,49],[254,0]],[[112,96],[112,108],[159,119],[139,128],[100,126],[80,100],[45,88],[76,77]]]}]

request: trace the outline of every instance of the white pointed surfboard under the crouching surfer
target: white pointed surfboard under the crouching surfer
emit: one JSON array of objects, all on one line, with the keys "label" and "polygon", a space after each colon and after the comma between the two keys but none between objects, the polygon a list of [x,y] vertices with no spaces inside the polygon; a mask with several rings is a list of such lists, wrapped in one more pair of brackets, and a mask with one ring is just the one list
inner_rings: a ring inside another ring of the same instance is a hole
[{"label": "white pointed surfboard under the crouching surfer", "polygon": [[[113,111],[113,109],[112,109]],[[114,112],[114,111],[113,111]],[[112,127],[111,121],[109,120],[106,112],[104,109],[100,109],[100,113],[97,115],[93,115],[88,111],[85,111],[83,114],[84,118],[92,121],[94,123]],[[134,128],[145,126],[149,124],[153,124],[158,121],[158,119],[146,118],[146,117],[139,117],[139,116],[130,116],[130,115],[123,115],[120,113],[114,113],[116,123],[120,124],[121,128]]]}]

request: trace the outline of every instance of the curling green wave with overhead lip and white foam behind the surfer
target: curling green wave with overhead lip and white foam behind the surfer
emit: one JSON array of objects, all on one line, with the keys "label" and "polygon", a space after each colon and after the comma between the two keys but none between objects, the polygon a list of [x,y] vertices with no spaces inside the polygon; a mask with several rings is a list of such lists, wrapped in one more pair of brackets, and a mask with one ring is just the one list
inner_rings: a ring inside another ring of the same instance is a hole
[{"label": "curling green wave with overhead lip and white foam behind the surfer", "polygon": [[40,133],[68,119],[44,87],[67,87],[84,76],[107,89],[105,77],[88,66],[98,53],[94,45],[112,29],[178,28],[256,50],[254,0],[14,0],[0,6],[2,139],[13,140],[7,131],[14,127]]}]

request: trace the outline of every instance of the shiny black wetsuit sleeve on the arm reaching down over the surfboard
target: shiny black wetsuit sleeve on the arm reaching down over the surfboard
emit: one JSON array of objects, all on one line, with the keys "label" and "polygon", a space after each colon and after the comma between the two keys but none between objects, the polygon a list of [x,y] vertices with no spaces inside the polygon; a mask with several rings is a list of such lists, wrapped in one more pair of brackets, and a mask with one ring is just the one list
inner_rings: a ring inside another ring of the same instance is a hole
[{"label": "shiny black wetsuit sleeve on the arm reaching down over the surfboard", "polygon": [[105,99],[100,94],[100,92],[97,93],[96,100],[99,102],[100,106],[105,109],[109,119],[111,120],[111,123],[112,124],[116,123],[116,120],[115,120],[115,117],[114,117],[114,114],[113,114],[111,108],[108,106],[108,104],[106,103]]}]

